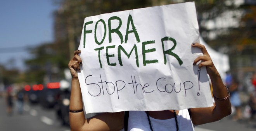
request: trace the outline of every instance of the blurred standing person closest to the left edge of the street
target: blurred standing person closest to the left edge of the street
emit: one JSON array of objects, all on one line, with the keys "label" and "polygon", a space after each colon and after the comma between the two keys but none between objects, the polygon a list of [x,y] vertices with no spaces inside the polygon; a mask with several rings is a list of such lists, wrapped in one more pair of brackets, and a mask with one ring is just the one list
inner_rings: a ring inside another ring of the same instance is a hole
[{"label": "blurred standing person closest to the left edge of the street", "polygon": [[7,87],[6,93],[7,114],[11,116],[13,107],[12,87]]}]

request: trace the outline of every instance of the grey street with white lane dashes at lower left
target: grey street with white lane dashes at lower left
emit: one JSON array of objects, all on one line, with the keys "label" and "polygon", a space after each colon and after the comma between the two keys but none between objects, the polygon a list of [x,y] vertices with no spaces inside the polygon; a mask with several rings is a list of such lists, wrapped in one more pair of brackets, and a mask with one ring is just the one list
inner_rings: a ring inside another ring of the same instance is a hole
[{"label": "grey street with white lane dashes at lower left", "polygon": [[[0,97],[0,131],[70,131],[68,126],[62,126],[54,109],[45,109],[40,104],[24,103],[24,112],[19,114],[14,102],[13,113],[6,113],[6,103]],[[86,114],[87,117],[93,114]]]}]

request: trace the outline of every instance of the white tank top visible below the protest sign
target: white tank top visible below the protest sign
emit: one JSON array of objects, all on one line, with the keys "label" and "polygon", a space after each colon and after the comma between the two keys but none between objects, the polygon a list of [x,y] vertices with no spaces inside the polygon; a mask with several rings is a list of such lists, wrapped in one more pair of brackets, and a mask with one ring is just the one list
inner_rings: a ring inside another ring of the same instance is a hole
[{"label": "white tank top visible below the protest sign", "polygon": [[[176,131],[175,118],[160,120],[150,117],[154,131]],[[180,110],[177,115],[179,131],[194,131],[187,109]],[[130,111],[128,119],[128,131],[150,131],[149,121],[145,111]]]}]

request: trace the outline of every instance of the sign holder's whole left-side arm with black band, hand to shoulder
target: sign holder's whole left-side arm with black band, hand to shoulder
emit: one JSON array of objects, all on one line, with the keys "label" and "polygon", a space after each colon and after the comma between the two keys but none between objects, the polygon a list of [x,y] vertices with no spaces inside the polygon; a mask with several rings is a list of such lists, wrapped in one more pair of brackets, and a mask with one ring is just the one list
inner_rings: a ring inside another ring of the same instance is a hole
[{"label": "sign holder's whole left-side arm with black band, hand to shoulder", "polygon": [[82,60],[78,56],[81,50],[74,52],[74,57],[69,61],[68,67],[72,76],[71,95],[69,105],[69,124],[71,131],[92,130],[120,130],[123,128],[124,112],[101,113],[92,118],[85,118],[83,101],[77,72],[80,71]]}]

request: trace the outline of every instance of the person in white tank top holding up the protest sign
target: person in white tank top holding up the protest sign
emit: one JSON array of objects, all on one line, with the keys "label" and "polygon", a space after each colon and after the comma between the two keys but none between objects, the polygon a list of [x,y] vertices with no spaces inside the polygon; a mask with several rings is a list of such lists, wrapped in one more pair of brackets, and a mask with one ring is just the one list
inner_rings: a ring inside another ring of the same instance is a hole
[{"label": "person in white tank top holding up the protest sign", "polygon": [[[201,61],[198,66],[206,67],[207,73],[213,86],[214,106],[191,108],[184,110],[164,110],[164,111],[129,111],[129,116],[125,117],[124,112],[101,113],[92,118],[85,118],[83,111],[83,100],[78,80],[78,71],[82,60],[78,54],[81,50],[74,52],[74,57],[69,61],[69,69],[72,75],[72,89],[69,106],[70,128],[73,131],[86,130],[180,130],[194,131],[194,125],[211,123],[218,121],[231,114],[230,93],[225,87],[215,68],[210,55],[204,45],[195,43],[192,47],[198,47],[203,55],[197,57],[193,65]],[[86,61],[83,61],[86,62]],[[192,64],[192,63],[191,63]],[[128,120],[127,120],[128,118]],[[191,118],[191,119],[190,119]]]}]

